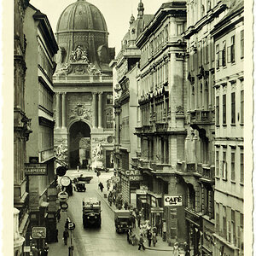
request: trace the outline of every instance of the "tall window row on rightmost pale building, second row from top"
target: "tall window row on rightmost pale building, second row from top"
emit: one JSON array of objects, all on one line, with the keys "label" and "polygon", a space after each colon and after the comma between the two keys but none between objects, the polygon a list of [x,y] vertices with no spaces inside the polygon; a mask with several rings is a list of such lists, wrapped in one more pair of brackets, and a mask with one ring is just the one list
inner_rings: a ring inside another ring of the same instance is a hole
[{"label": "tall window row on rightmost pale building, second row from top", "polygon": [[[228,95],[229,96],[229,95]],[[220,124],[220,98],[219,96],[216,96],[216,116],[215,116],[215,124]],[[236,116],[236,108],[237,106],[236,102],[236,91],[231,92],[230,94],[230,113],[227,113],[227,95],[224,94],[222,96],[222,125],[227,125],[227,115],[231,117],[230,124],[236,125],[236,120],[240,122],[240,124],[243,124],[244,122],[244,91],[240,91],[240,114],[238,113]]]}]

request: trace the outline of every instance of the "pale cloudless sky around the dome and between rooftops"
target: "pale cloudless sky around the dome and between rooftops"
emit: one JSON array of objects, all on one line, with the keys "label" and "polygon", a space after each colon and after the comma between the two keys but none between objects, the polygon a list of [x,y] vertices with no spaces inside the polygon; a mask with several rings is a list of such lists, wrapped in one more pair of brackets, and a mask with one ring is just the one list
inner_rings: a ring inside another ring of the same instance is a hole
[{"label": "pale cloudless sky around the dome and between rooftops", "polygon": [[[47,15],[49,23],[55,32],[62,11],[77,0],[30,0],[30,3]],[[104,16],[108,26],[108,46],[115,47],[116,55],[121,47],[121,40],[129,28],[131,14],[137,18],[139,0],[88,0],[94,4]],[[161,3],[167,0],[143,0],[144,14],[154,15],[160,9]]]}]

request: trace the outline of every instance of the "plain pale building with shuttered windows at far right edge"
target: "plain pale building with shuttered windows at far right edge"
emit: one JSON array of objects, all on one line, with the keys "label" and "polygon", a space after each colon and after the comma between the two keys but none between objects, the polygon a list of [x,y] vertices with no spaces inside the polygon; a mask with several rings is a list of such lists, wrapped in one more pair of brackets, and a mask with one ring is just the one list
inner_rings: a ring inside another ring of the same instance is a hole
[{"label": "plain pale building with shuttered windows at far right edge", "polygon": [[244,255],[244,3],[211,32],[215,48],[214,255]]}]

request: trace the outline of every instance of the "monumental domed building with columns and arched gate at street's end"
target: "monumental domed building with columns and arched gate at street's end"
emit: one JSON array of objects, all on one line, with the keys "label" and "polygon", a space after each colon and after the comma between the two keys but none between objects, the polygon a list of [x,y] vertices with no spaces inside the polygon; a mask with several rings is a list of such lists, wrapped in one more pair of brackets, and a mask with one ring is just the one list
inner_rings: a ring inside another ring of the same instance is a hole
[{"label": "monumental domed building with columns and arched gate at street's end", "polygon": [[112,70],[106,21],[93,4],[78,0],[56,27],[54,75],[55,155],[69,167],[113,166]]}]

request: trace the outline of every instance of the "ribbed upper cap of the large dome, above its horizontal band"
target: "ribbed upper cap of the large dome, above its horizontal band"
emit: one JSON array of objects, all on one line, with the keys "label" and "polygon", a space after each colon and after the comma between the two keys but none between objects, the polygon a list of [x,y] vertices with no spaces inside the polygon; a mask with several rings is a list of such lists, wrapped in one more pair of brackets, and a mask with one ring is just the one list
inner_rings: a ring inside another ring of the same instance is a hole
[{"label": "ribbed upper cap of the large dome, above its horizontal band", "polygon": [[70,31],[108,32],[108,28],[96,6],[86,0],[78,0],[64,9],[57,23],[56,33]]}]

